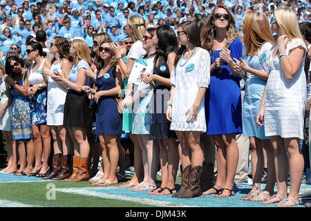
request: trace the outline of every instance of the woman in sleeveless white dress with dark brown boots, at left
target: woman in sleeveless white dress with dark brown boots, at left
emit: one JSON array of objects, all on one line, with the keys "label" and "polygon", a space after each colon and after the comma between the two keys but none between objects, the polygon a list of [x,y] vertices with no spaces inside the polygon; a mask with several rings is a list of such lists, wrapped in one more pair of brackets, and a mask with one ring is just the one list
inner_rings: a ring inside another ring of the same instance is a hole
[{"label": "woman in sleeveless white dress with dark brown boots, at left", "polygon": [[64,127],[64,106],[67,88],[59,81],[54,81],[55,75],[68,76],[71,69],[70,44],[64,37],[54,37],[50,43],[50,53],[53,55],[51,68],[43,68],[44,77],[48,81],[48,104],[46,121],[53,137],[53,170],[44,178],[64,180],[70,177],[70,160],[73,155],[73,144],[70,135]]}]

